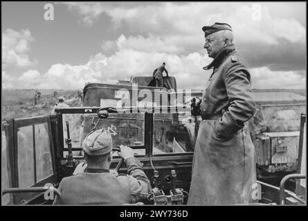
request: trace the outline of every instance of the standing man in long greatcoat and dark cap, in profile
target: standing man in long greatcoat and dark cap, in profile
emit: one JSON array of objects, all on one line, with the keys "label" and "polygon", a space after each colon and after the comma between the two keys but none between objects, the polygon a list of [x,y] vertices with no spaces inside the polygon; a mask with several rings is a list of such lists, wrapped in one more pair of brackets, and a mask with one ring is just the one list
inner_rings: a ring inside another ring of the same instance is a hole
[{"label": "standing man in long greatcoat and dark cap, in profile", "polygon": [[214,60],[203,90],[188,204],[248,204],[256,182],[255,148],[247,121],[255,113],[251,75],[239,61],[227,23],[202,28]]}]

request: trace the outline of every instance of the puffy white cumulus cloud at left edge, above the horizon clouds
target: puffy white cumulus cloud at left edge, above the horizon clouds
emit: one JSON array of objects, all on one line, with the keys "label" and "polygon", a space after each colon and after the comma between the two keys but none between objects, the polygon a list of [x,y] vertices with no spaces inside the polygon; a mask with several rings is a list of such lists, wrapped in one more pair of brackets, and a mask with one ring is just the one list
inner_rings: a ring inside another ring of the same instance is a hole
[{"label": "puffy white cumulus cloud at left edge, above the horizon clouds", "polygon": [[17,32],[7,29],[2,33],[2,64],[3,68],[8,66],[27,67],[37,64],[37,60],[31,61],[28,53],[30,52],[30,42],[35,41],[31,32],[21,30]]}]

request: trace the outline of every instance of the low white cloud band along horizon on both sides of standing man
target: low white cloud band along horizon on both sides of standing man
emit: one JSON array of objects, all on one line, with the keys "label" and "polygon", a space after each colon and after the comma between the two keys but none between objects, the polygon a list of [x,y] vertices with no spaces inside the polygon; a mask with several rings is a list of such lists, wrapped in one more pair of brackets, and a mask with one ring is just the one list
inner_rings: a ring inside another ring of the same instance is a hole
[{"label": "low white cloud band along horizon on both sides of standing man", "polygon": [[[203,89],[211,71],[202,67],[210,62],[198,52],[189,55],[170,55],[164,52],[141,52],[125,48],[114,55],[101,52],[90,57],[87,64],[54,64],[44,75],[37,70],[28,70],[19,81],[2,73],[3,85],[18,88],[80,89],[87,82],[116,84],[118,79],[134,76],[149,76],[161,62],[166,62],[169,75],[176,77],[178,88]],[[272,71],[268,67],[252,68],[253,88],[305,88],[306,75],[296,71]]]}]

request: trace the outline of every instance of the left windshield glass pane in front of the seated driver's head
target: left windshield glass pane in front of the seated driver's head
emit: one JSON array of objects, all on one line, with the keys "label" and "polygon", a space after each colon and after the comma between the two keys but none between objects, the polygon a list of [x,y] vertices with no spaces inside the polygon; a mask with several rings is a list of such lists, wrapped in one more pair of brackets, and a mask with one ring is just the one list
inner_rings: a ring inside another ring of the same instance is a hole
[{"label": "left windshield glass pane in front of the seated driver's head", "polygon": [[[96,126],[96,130],[104,128],[113,138],[113,145],[144,146],[144,114],[143,113],[110,113],[108,118],[99,119],[97,115],[65,114],[63,117],[64,148],[67,148],[66,121],[69,122],[69,133],[72,148],[82,148],[84,137]],[[137,155],[145,155],[145,148],[134,149]],[[67,154],[67,153],[64,153]],[[76,151],[75,155],[80,155]]]}]

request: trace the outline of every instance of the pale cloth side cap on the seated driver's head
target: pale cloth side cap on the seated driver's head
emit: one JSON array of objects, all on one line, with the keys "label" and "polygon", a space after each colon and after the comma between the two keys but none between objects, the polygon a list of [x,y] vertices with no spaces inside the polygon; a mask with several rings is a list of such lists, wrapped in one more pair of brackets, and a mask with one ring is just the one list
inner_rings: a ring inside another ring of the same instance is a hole
[{"label": "pale cloth side cap on the seated driver's head", "polygon": [[106,155],[112,150],[111,134],[105,129],[89,133],[82,143],[82,150],[92,156]]}]

